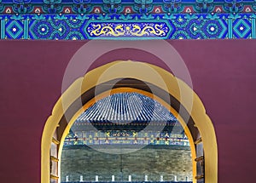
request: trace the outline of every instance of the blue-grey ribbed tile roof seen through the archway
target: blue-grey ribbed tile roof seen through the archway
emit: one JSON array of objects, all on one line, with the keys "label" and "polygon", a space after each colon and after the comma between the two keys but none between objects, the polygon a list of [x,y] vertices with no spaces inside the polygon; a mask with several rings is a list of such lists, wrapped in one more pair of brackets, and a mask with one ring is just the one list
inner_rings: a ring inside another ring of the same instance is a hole
[{"label": "blue-grey ribbed tile roof seen through the archway", "polygon": [[112,94],[90,106],[76,123],[86,122],[176,122],[177,119],[159,102],[143,94]]}]

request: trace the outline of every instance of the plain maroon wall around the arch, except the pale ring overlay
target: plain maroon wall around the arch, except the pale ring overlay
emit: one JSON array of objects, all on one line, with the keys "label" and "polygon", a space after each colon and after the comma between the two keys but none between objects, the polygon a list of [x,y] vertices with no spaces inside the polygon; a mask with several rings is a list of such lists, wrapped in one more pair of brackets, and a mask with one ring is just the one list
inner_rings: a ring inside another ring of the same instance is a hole
[{"label": "plain maroon wall around the arch, except the pale ring overlay", "polygon": [[[0,181],[40,183],[44,123],[61,95],[68,61],[86,42],[0,41]],[[256,165],[256,40],[169,41],[189,68],[218,140],[218,182],[254,182]],[[167,50],[166,50],[167,51]],[[112,60],[144,60],[143,51],[119,49]]]}]

